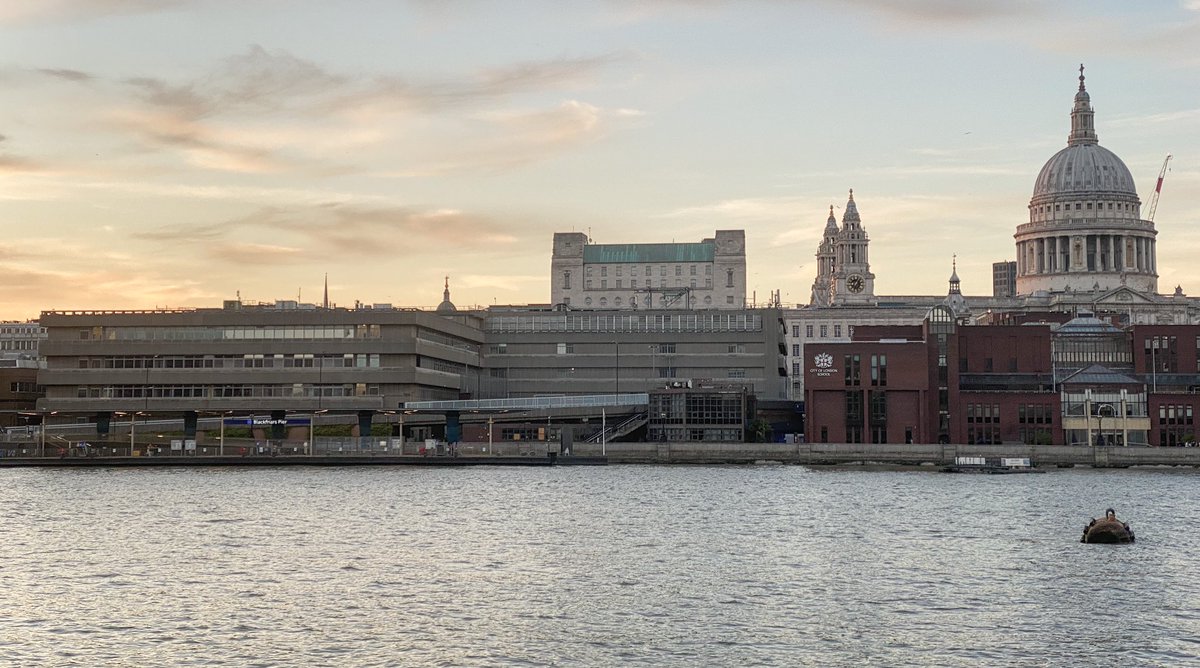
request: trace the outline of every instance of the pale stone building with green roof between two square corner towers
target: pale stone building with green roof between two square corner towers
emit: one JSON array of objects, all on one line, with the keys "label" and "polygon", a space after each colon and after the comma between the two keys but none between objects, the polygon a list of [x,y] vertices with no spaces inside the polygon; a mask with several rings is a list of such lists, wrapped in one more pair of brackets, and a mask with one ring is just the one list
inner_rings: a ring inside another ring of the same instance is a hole
[{"label": "pale stone building with green roof between two square corner towers", "polygon": [[556,233],[550,301],[570,308],[746,307],[743,230],[716,230],[698,243],[592,243]]}]

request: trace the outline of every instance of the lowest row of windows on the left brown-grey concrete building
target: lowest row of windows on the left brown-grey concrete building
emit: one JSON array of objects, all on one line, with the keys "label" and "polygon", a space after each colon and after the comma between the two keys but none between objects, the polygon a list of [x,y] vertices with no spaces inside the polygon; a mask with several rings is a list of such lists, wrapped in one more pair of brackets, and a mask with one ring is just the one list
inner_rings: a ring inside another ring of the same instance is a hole
[{"label": "lowest row of windows on the left brown-grey concrete building", "polygon": [[379,395],[374,383],[340,383],[336,385],[311,385],[289,383],[284,385],[80,385],[80,399],[185,399],[230,397],[371,397]]}]

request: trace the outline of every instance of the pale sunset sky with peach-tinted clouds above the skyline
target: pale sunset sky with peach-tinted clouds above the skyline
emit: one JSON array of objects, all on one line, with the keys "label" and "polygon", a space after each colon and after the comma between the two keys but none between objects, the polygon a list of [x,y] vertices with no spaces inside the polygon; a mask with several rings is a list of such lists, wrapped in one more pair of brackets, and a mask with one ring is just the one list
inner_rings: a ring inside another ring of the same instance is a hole
[{"label": "pale sunset sky with peach-tinted clouds above the skyline", "polygon": [[1200,0],[4,0],[0,319],[550,300],[554,231],[746,231],[806,303],[829,206],[880,295],[991,293],[1086,66],[1200,295]]}]

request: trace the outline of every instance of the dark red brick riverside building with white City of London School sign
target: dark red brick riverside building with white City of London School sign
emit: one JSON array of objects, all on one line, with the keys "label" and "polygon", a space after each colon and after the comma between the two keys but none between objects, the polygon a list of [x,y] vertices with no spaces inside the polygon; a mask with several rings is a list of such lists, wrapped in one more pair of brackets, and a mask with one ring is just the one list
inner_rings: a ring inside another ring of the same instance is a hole
[{"label": "dark red brick riverside building with white City of London School sign", "polygon": [[[1056,314],[1048,314],[1056,315]],[[1200,326],[858,327],[809,347],[806,438],[818,443],[1178,446],[1196,439]]]}]

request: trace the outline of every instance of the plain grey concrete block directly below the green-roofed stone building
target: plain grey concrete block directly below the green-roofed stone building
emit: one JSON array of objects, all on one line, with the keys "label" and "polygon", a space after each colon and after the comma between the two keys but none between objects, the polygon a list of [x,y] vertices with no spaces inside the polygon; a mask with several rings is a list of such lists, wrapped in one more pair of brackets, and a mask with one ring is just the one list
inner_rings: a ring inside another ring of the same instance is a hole
[{"label": "plain grey concrete block directly below the green-roofed stone building", "polygon": [[779,309],[500,307],[485,329],[490,398],[647,392],[701,379],[787,397]]}]

